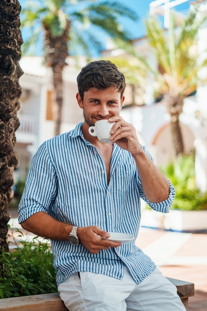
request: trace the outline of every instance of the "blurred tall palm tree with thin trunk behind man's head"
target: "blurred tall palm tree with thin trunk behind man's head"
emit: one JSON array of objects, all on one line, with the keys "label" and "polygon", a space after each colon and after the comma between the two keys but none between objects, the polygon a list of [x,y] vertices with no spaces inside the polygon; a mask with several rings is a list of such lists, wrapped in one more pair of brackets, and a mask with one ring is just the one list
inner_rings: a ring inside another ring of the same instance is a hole
[{"label": "blurred tall palm tree with thin trunk behind man's head", "polygon": [[77,48],[87,56],[93,49],[100,50],[103,33],[112,39],[128,41],[130,36],[122,30],[118,18],[127,16],[136,20],[137,16],[126,5],[111,0],[30,0],[25,2],[22,13],[22,27],[34,29],[31,38],[25,42],[25,48],[37,41],[40,31],[44,31],[45,63],[52,68],[55,90],[54,135],[58,135],[63,101],[62,71],[66,57],[77,53]]}]

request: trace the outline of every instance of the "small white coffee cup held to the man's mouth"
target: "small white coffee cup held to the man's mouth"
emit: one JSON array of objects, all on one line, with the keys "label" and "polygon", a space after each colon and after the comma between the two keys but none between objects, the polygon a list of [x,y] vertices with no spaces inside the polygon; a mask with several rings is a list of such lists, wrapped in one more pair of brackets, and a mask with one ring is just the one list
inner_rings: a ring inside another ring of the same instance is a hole
[{"label": "small white coffee cup held to the man's mouth", "polygon": [[111,143],[109,137],[111,137],[110,130],[115,122],[111,123],[108,120],[99,120],[95,123],[95,126],[90,126],[89,134],[97,137],[102,143]]}]

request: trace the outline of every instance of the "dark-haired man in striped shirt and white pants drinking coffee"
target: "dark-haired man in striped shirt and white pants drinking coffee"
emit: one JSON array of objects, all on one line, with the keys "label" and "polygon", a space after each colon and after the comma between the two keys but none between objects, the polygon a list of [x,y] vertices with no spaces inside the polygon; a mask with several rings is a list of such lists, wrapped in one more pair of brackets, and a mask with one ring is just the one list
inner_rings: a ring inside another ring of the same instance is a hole
[{"label": "dark-haired man in striped shirt and white pants drinking coffee", "polygon": [[[77,82],[84,122],[45,142],[33,157],[19,222],[51,239],[58,291],[68,310],[184,311],[176,288],[134,241],[108,239],[109,232],[136,239],[140,198],[167,213],[175,194],[135,128],[119,116],[124,76],[111,62],[96,61]],[[102,119],[115,122],[110,144],[88,132]]]}]

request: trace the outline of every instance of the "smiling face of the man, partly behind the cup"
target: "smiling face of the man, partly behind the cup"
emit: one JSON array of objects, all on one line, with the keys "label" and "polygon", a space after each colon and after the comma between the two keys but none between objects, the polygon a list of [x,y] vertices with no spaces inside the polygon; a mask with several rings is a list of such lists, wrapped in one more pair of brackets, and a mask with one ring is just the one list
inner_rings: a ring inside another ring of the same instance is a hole
[{"label": "smiling face of the man, partly behind the cup", "polygon": [[79,93],[76,97],[80,108],[83,109],[85,122],[89,126],[94,126],[99,120],[118,116],[124,101],[124,96],[121,98],[121,93],[113,87],[101,90],[91,87],[84,93],[83,101]]}]

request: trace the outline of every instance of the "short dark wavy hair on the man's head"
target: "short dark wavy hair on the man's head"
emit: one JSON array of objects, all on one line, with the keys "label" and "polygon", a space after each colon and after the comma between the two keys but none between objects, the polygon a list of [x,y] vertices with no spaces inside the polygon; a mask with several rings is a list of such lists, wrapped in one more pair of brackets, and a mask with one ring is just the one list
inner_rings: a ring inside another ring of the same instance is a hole
[{"label": "short dark wavy hair on the man's head", "polygon": [[78,91],[83,100],[84,92],[89,88],[104,89],[114,87],[123,96],[126,87],[124,75],[118,71],[116,65],[110,61],[94,61],[82,68],[77,77]]}]

